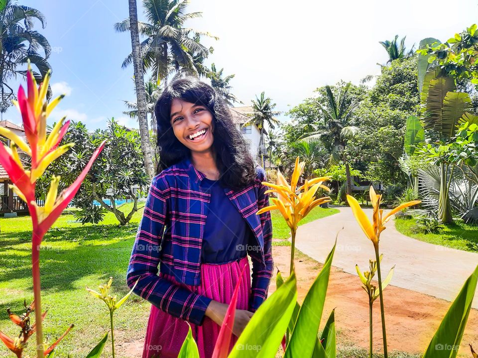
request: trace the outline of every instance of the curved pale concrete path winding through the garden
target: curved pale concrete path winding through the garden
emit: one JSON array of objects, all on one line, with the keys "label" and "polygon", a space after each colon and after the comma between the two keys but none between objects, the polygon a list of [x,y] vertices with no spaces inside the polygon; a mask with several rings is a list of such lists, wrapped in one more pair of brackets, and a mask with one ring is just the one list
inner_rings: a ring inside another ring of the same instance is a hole
[{"label": "curved pale concrete path winding through the garden", "polygon": [[[299,226],[296,248],[321,263],[337,240],[333,266],[357,275],[355,265],[364,271],[368,260],[375,259],[373,245],[365,237],[349,207],[340,213]],[[365,209],[369,218],[372,209]],[[289,238],[290,240],[290,238]],[[390,284],[453,301],[463,283],[478,265],[478,254],[418,241],[400,234],[393,219],[380,235],[382,279],[395,265]],[[375,276],[376,278],[376,276]],[[478,308],[478,289],[473,307]]]}]

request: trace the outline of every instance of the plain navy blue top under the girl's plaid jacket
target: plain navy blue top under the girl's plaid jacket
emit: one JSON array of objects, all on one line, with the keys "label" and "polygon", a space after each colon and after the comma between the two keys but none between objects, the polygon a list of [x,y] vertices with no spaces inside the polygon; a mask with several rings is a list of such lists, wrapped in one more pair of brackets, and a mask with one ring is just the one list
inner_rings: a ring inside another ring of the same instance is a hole
[{"label": "plain navy blue top under the girl's plaid jacket", "polygon": [[201,186],[211,193],[201,261],[222,264],[246,256],[251,234],[247,222],[229,200],[219,180],[204,178]]}]

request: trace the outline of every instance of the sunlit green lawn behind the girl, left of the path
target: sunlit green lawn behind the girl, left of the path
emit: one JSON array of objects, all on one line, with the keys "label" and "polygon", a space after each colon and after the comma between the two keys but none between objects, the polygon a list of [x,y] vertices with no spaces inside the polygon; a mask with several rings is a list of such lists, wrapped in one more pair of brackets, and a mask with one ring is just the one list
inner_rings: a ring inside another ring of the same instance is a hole
[{"label": "sunlit green lawn behind the girl, left of the path", "polygon": [[[140,203],[142,206],[143,203]],[[130,208],[125,204],[123,208]],[[301,224],[332,215],[337,209],[315,208]],[[101,225],[81,225],[72,215],[62,215],[46,234],[41,251],[42,306],[48,309],[44,333],[52,343],[71,323],[75,327],[62,341],[56,357],[85,357],[109,329],[106,304],[91,296],[85,286],[96,289],[113,276],[114,291],[122,297],[126,269],[142,210],[129,225],[120,227],[108,213]],[[285,239],[289,230],[282,216],[272,212],[273,237]],[[33,299],[31,280],[31,222],[29,217],[0,218],[0,330],[13,337],[18,333],[6,314],[11,308],[22,313],[23,300]],[[133,295],[115,312],[117,342],[142,340],[150,305]],[[33,357],[34,337],[24,357]],[[111,346],[104,357],[111,356]],[[0,357],[11,357],[0,343]],[[120,357],[117,355],[117,357]]]}]

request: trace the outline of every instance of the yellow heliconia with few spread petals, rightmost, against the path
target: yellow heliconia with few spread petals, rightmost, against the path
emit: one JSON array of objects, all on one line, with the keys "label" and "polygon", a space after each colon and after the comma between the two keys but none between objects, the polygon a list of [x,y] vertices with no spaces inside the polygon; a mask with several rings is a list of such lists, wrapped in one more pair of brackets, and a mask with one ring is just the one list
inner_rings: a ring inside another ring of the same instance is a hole
[{"label": "yellow heliconia with few spread petals, rightmost, against the path", "polygon": [[363,232],[369,238],[373,245],[378,245],[378,241],[380,239],[380,233],[385,230],[384,224],[390,220],[391,216],[397,213],[398,211],[405,209],[409,206],[417,205],[421,203],[421,200],[413,200],[406,203],[403,203],[396,208],[390,210],[384,217],[383,209],[380,209],[380,201],[382,199],[381,194],[375,193],[373,186],[370,185],[370,201],[372,202],[373,207],[373,220],[372,223],[365,215],[365,212],[360,207],[359,202],[355,197],[352,195],[347,194],[347,201],[354,213],[355,218],[357,219],[360,227],[362,228]]}]

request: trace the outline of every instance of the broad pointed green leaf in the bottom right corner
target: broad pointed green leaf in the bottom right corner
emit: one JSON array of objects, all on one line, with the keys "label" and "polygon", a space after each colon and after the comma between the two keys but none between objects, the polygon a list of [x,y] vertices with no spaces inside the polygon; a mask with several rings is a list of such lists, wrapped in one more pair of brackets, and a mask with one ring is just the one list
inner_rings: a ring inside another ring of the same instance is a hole
[{"label": "broad pointed green leaf in the bottom right corner", "polygon": [[423,358],[455,358],[460,348],[468,315],[477,289],[478,266],[465,281],[462,290],[453,301],[433,336]]}]

